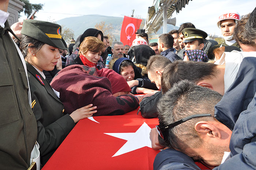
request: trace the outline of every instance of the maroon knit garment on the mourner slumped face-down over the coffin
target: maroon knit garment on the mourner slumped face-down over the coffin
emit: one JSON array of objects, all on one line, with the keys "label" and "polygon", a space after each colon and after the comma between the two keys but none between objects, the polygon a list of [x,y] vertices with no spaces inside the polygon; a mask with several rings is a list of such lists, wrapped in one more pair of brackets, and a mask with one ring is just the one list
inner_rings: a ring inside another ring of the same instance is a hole
[{"label": "maroon knit garment on the mourner slumped face-down over the coffin", "polygon": [[53,78],[51,86],[60,92],[60,101],[68,114],[89,104],[97,106],[93,116],[121,115],[139,106],[138,99],[132,95],[114,97],[109,79],[99,77],[94,67],[66,67]]}]

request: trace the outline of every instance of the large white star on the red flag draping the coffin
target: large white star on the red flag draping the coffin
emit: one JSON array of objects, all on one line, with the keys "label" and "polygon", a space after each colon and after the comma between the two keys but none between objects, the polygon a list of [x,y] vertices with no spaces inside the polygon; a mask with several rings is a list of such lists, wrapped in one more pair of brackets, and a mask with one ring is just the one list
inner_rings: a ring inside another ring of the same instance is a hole
[{"label": "large white star on the red flag draping the coffin", "polygon": [[151,128],[144,122],[135,133],[104,133],[106,135],[114,136],[120,139],[127,140],[127,142],[112,156],[118,156],[131,152],[143,147],[151,147],[149,133]]}]

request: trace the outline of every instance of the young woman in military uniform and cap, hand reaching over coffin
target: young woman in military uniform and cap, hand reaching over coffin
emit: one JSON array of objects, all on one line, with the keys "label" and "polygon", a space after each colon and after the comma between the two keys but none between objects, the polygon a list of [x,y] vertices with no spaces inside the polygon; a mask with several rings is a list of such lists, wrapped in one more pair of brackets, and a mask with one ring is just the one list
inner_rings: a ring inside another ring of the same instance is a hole
[{"label": "young woman in military uniform and cap, hand reaching over coffin", "polygon": [[37,120],[37,141],[41,164],[44,165],[75,123],[97,111],[94,110],[95,106],[87,105],[70,115],[65,114],[59,92],[45,80],[42,71],[51,71],[57,61],[61,60],[59,49],[67,49],[61,37],[61,26],[39,20],[24,20],[21,34],[20,47],[26,61],[31,106]]}]

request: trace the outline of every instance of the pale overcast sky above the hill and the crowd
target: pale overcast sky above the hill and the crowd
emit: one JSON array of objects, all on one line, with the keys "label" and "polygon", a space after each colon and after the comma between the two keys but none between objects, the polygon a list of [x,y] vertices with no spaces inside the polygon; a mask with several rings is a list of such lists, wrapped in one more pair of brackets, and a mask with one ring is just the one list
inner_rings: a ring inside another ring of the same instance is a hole
[{"label": "pale overcast sky above the hill and the crowd", "polygon": [[[131,16],[133,9],[135,17],[146,19],[148,7],[151,7],[153,2],[154,0],[30,0],[30,3],[44,3],[43,10],[38,11],[36,16],[38,20],[45,21],[93,14],[124,17]],[[233,11],[245,15],[255,7],[255,0],[193,0],[189,1],[180,13],[174,12],[172,18],[176,17],[176,26],[191,22],[197,29],[208,34],[221,35],[217,27],[219,15]],[[24,18],[25,16],[22,17]]]}]

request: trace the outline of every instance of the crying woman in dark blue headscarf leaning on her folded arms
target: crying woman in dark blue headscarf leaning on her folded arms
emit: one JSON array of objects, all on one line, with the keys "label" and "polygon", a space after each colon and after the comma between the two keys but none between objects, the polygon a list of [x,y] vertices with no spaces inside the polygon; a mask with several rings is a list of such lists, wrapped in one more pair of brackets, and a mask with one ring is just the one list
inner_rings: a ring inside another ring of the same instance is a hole
[{"label": "crying woman in dark blue headscarf leaning on her folded arms", "polygon": [[[131,87],[132,94],[145,93],[152,94],[157,92],[158,88],[154,83],[146,77],[142,76],[138,67],[136,67],[133,62],[128,58],[118,58],[114,62],[112,68],[115,72],[123,76],[123,78],[127,81],[129,87]],[[112,64],[110,64],[111,66]]]}]

